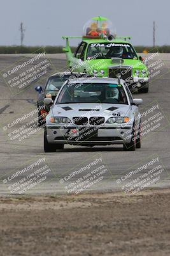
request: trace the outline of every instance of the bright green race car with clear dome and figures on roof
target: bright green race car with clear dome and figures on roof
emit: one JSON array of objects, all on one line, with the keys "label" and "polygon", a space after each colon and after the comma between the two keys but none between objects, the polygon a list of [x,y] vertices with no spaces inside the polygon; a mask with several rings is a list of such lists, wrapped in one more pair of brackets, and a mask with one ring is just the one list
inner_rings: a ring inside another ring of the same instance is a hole
[{"label": "bright green race car with clear dome and figures on roof", "polygon": [[[129,36],[115,36],[111,33],[109,20],[94,17],[84,27],[83,36],[62,36],[66,39],[67,65],[71,72],[85,72],[96,77],[120,77],[129,88],[148,92],[148,68],[127,41]],[[69,45],[70,38],[81,38],[75,53]]]}]

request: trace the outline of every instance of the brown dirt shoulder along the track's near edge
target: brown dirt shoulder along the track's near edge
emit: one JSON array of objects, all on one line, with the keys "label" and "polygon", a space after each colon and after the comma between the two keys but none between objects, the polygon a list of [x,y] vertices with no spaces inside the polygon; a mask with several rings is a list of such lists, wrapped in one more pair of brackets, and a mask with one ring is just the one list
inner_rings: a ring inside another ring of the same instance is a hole
[{"label": "brown dirt shoulder along the track's near edge", "polygon": [[170,255],[170,189],[0,198],[0,255]]}]

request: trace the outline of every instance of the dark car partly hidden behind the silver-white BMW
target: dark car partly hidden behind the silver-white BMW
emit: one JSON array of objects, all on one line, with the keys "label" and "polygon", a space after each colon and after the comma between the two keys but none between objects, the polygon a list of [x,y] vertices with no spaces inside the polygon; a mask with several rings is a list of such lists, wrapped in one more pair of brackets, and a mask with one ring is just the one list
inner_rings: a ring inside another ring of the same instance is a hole
[{"label": "dark car partly hidden behind the silver-white BMW", "polygon": [[71,72],[58,72],[48,77],[45,86],[36,86],[35,90],[38,92],[37,108],[38,111],[38,125],[39,127],[45,124],[45,116],[48,114],[49,109],[45,106],[43,99],[52,98],[55,100],[57,93],[59,92],[62,84],[67,79],[74,79],[76,77],[89,76],[84,73],[71,73]]}]

